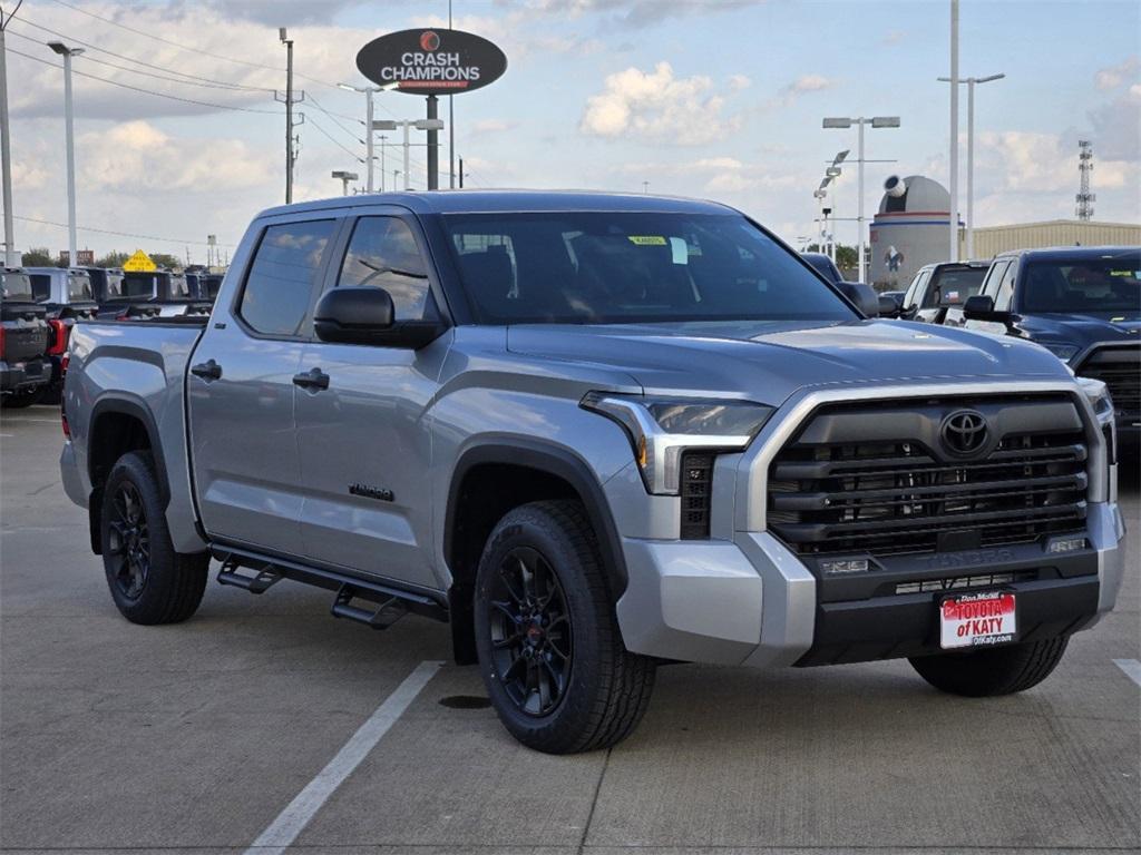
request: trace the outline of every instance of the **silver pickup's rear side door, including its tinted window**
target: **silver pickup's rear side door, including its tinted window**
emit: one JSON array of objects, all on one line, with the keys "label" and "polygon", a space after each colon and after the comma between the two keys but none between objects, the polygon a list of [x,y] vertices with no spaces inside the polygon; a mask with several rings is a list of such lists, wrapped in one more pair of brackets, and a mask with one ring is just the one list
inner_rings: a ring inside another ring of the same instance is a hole
[{"label": "silver pickup's rear side door, including its tinted window", "polygon": [[191,461],[211,539],[301,554],[294,377],[335,219],[267,226],[187,376]]}]

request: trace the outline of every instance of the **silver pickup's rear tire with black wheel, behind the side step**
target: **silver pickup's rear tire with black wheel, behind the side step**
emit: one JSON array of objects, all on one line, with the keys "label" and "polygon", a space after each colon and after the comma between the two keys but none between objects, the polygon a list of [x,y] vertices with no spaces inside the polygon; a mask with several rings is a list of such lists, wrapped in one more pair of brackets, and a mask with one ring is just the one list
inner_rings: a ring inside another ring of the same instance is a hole
[{"label": "silver pickup's rear tire with black wheel, behind the side step", "polygon": [[175,552],[154,457],[124,454],[104,486],[103,565],[115,606],[132,624],[177,624],[202,602],[210,553]]}]

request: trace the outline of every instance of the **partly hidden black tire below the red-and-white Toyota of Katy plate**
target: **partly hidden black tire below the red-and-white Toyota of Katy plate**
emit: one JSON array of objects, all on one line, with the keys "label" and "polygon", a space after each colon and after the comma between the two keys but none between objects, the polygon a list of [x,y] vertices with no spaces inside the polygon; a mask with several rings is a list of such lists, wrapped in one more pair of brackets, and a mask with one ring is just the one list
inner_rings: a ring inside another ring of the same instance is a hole
[{"label": "partly hidden black tire below the red-and-white Toyota of Katy plate", "polygon": [[1068,643],[1068,637],[1059,636],[970,653],[914,657],[908,661],[941,692],[994,698],[1038,685],[1058,667]]}]

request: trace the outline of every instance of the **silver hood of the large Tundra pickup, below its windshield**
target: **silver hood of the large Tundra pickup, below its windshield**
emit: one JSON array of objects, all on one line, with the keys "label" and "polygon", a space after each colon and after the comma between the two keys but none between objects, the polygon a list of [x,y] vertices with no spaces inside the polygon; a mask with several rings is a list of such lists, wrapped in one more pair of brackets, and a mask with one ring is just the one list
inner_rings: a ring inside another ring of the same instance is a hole
[{"label": "silver hood of the large Tundra pickup, below its windshield", "polygon": [[892,320],[519,325],[508,350],[605,364],[647,391],[777,405],[804,386],[932,378],[1069,380],[1049,351],[1011,336]]}]

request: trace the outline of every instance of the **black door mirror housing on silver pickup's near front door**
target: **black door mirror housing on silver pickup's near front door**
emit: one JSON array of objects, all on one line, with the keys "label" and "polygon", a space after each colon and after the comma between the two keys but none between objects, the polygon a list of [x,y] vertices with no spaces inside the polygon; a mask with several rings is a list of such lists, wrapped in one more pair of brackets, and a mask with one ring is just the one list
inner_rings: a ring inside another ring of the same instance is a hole
[{"label": "black door mirror housing on silver pickup's near front door", "polygon": [[379,348],[419,350],[439,337],[437,320],[395,319],[393,296],[367,285],[337,287],[325,292],[313,312],[313,328],[323,342],[372,344]]}]

